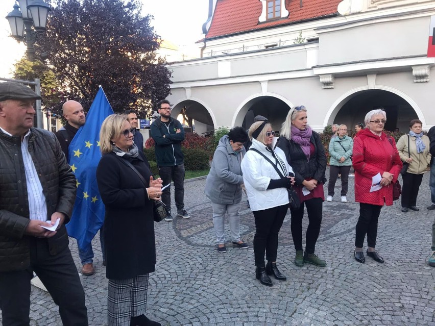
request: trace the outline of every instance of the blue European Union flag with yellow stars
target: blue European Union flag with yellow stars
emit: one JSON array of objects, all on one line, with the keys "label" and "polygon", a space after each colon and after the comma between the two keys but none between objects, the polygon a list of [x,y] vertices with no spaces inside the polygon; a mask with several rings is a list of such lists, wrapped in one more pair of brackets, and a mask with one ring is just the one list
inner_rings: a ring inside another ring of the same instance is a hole
[{"label": "blue European Union flag with yellow stars", "polygon": [[100,128],[104,119],[111,114],[112,107],[100,87],[86,115],[84,126],[80,127],[68,146],[69,165],[77,180],[77,194],[66,230],[70,237],[77,239],[81,250],[89,247],[104,221],[105,208],[95,174],[101,159]]}]

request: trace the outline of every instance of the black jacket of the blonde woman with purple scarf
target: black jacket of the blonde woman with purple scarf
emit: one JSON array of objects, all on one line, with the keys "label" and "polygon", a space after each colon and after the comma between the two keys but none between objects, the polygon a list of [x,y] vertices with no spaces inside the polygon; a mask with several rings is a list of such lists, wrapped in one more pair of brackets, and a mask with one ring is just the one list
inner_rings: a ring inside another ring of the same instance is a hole
[{"label": "black jacket of the blonde woman with purple scarf", "polygon": [[278,147],[284,151],[288,164],[292,166],[297,185],[301,185],[307,178],[316,179],[323,184],[326,182],[325,148],[323,147],[319,134],[315,131],[312,132],[310,143],[314,145],[315,149],[308,161],[300,145],[283,136],[279,138]]}]

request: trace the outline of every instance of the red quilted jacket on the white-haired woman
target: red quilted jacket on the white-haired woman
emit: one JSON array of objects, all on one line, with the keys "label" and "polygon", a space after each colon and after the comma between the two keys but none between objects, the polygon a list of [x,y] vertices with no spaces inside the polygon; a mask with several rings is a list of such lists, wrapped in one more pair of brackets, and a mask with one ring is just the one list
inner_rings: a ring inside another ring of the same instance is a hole
[{"label": "red quilted jacket on the white-haired woman", "polygon": [[361,130],[354,139],[352,164],[355,168],[355,201],[358,203],[386,206],[393,205],[393,185],[383,186],[380,190],[370,192],[372,178],[388,171],[397,181],[402,161],[397,152],[396,142],[393,146],[385,133],[381,137],[369,129]]}]

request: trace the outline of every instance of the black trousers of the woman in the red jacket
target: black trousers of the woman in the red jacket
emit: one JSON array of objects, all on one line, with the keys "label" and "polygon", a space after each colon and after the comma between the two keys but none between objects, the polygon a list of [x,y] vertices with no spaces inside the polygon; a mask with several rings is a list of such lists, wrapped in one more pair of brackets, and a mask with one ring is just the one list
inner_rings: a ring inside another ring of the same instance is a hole
[{"label": "black trousers of the woman in the red jacket", "polygon": [[378,219],[382,206],[359,203],[359,218],[355,228],[355,247],[362,248],[367,234],[367,245],[374,248],[378,234]]}]

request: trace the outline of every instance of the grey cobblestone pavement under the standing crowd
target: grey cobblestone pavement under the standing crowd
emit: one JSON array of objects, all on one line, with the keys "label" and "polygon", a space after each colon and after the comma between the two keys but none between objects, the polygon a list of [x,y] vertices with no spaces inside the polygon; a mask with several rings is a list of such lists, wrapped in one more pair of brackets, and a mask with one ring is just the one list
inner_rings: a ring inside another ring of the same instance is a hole
[{"label": "grey cobblestone pavement under the standing crowd", "polygon": [[[187,181],[185,203],[191,218],[155,223],[157,266],[150,277],[147,315],[163,325],[435,325],[435,268],[426,263],[435,217],[426,209],[428,179],[425,173],[417,203],[420,212],[402,213],[400,200],[382,208],[377,249],[384,264],[370,257],[360,264],[353,258],[359,208],[353,178],[348,203],[339,202],[339,179],[334,201],[323,206],[316,253],[326,259],[326,267],[293,264],[288,213],[278,248],[278,266],[287,281],[273,279],[271,288],[255,279],[255,226],[246,196],[240,227],[251,247],[236,248],[229,241],[227,253],[220,254],[215,250],[211,205],[204,195],[205,178]],[[90,325],[107,324],[107,280],[99,247],[95,238],[95,275],[82,278]],[[70,248],[80,270],[74,239]],[[49,294],[32,287],[31,325],[61,325],[57,310]]]}]

